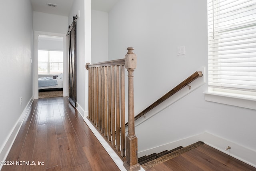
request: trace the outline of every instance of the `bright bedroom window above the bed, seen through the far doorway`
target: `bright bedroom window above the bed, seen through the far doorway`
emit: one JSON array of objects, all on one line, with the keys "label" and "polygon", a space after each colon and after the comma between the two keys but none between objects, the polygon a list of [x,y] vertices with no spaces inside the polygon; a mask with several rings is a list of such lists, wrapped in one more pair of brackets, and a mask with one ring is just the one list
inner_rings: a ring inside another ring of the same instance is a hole
[{"label": "bright bedroom window above the bed, seen through the far doorway", "polygon": [[63,52],[38,50],[38,74],[63,73]]}]

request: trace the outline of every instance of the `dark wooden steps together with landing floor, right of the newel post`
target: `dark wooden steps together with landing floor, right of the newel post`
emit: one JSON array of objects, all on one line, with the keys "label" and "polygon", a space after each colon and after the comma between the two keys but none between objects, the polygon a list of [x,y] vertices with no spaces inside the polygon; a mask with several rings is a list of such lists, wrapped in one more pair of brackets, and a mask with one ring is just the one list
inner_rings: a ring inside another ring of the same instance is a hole
[{"label": "dark wooden steps together with landing floor, right of the newel post", "polygon": [[146,171],[256,171],[255,167],[201,141],[170,151],[163,151],[168,153],[165,155],[158,153],[143,156],[138,161]]}]

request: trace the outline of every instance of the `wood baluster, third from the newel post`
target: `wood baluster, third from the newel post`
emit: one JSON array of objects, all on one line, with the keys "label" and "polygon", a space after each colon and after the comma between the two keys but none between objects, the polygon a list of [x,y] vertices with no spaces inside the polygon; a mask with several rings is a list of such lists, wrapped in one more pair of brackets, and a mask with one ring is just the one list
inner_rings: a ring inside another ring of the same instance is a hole
[{"label": "wood baluster, third from the newel post", "polygon": [[115,110],[115,66],[111,67],[111,135],[112,145],[116,145],[116,110]]}]

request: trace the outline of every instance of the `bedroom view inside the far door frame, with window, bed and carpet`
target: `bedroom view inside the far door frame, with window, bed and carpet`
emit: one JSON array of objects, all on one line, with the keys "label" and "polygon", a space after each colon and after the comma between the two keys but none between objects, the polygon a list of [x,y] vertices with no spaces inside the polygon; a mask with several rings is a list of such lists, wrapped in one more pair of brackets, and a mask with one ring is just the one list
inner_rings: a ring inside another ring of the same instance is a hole
[{"label": "bedroom view inside the far door frame, with window, bed and carpet", "polygon": [[63,96],[63,37],[38,35],[38,94]]}]

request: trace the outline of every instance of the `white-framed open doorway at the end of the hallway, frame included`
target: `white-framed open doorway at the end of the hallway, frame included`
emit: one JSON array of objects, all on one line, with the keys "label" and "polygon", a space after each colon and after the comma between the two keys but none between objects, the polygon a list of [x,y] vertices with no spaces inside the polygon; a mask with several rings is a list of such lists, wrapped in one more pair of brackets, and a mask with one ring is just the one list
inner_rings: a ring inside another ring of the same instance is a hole
[{"label": "white-framed open doorway at the end of the hallway, frame included", "polygon": [[[68,59],[66,49],[65,34],[35,31],[34,99],[39,98],[38,91],[47,92],[63,89],[62,96],[68,95]],[[47,82],[46,85],[45,80]],[[48,85],[48,81],[53,82],[53,84],[50,83],[50,85]],[[38,82],[40,82],[40,84],[38,84]]]}]

